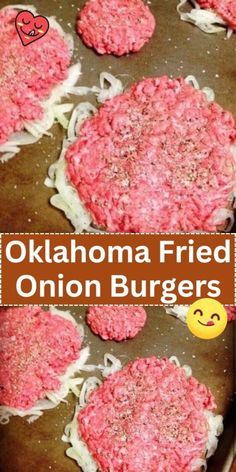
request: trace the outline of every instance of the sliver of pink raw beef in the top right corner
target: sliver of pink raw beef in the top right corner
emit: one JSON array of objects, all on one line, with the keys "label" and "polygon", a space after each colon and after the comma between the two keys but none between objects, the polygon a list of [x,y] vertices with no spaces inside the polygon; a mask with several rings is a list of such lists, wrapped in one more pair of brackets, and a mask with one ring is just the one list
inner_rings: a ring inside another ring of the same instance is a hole
[{"label": "sliver of pink raw beef in the top right corner", "polygon": [[220,15],[230,28],[236,30],[236,0],[197,0],[203,8],[210,8]]}]

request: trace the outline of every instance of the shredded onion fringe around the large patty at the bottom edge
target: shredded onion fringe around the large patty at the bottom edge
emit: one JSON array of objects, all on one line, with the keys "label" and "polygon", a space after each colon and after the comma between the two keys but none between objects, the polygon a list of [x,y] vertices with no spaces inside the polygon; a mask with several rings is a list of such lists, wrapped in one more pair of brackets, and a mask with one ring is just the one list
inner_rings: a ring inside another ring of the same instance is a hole
[{"label": "shredded onion fringe around the large patty at the bottom edge", "polygon": [[[177,367],[181,367],[181,364],[176,356],[170,357],[169,360],[170,362],[173,362],[173,364],[177,365]],[[117,367],[116,371],[122,368],[119,359],[115,358],[112,354],[105,354],[103,369],[101,369],[103,371],[103,376],[109,362],[111,362],[113,366]],[[101,368],[101,366],[98,367]],[[192,375],[191,367],[185,365],[182,368],[184,369],[187,377]],[[114,371],[110,372],[110,374],[112,373],[114,373]],[[106,376],[108,375],[109,374]],[[83,472],[99,472],[99,467],[90,454],[86,443],[80,436],[78,428],[78,414],[87,405],[90,393],[100,385],[101,381],[97,377],[90,377],[85,380],[81,389],[79,404],[75,408],[73,420],[65,427],[65,431],[62,436],[63,442],[71,444],[71,447],[69,447],[66,451],[66,455],[76,461]],[[217,448],[217,436],[220,436],[223,432],[223,417],[221,415],[214,415],[208,410],[205,410],[204,414],[208,422],[208,440],[206,445],[206,459],[208,459],[214,454]],[[192,465],[191,472],[196,472],[201,467],[203,467],[204,470],[207,469],[207,463],[205,459],[198,459],[195,461],[195,463]]]}]

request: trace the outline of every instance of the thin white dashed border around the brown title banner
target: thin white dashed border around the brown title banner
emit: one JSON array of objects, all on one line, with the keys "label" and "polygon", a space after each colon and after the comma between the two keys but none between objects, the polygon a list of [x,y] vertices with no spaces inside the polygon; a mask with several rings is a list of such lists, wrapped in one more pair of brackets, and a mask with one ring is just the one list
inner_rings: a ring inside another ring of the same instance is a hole
[{"label": "thin white dashed border around the brown title banner", "polygon": [[[214,235],[214,236],[221,236],[224,234],[225,236],[229,236],[234,239],[234,304],[226,304],[225,306],[236,306],[236,233],[206,233],[206,232],[196,232],[196,233],[107,233],[107,232],[100,232],[100,233],[73,233],[73,232],[67,232],[67,233],[1,233],[0,232],[0,305],[2,305],[2,237],[3,236],[195,236],[195,235],[201,235],[201,236],[209,236],[209,235]],[[45,303],[38,303],[38,306],[45,306]],[[182,306],[189,306],[188,303],[181,303]],[[24,307],[24,306],[34,306],[33,304],[4,304],[6,307]],[[56,306],[59,307],[87,307],[88,305],[86,304],[80,304],[80,303],[72,303],[72,304],[65,304],[65,303],[57,303]],[[129,306],[144,306],[144,307],[163,307],[165,308],[168,306],[168,304],[104,304],[104,303],[96,303],[94,306],[124,306],[124,307],[129,307]]]}]

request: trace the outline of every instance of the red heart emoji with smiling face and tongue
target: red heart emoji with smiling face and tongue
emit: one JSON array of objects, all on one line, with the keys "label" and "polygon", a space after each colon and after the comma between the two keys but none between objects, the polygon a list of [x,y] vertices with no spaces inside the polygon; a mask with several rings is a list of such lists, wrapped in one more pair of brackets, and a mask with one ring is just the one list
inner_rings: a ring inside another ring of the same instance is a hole
[{"label": "red heart emoji with smiling face and tongue", "polygon": [[15,24],[23,46],[28,46],[28,44],[42,38],[49,29],[47,18],[44,16],[34,16],[28,10],[18,13]]}]

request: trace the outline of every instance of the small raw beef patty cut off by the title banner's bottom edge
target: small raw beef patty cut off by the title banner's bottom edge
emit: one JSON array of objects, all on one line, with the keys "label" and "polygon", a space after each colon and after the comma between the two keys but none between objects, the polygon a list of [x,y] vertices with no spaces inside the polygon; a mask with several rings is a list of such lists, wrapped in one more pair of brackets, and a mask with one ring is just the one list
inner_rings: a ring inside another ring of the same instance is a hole
[{"label": "small raw beef patty cut off by the title banner's bottom edge", "polygon": [[142,307],[90,307],[87,323],[102,339],[123,341],[134,338],[144,327],[147,314]]}]

